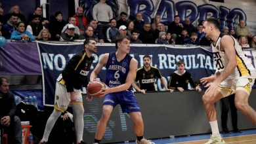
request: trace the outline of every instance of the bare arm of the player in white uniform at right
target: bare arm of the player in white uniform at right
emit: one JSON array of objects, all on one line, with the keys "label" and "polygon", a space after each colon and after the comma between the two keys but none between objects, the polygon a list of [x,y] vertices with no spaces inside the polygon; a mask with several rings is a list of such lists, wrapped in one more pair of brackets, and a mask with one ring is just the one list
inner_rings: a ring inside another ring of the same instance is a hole
[{"label": "bare arm of the player in white uniform at right", "polygon": [[[226,57],[228,58],[228,63],[219,76],[216,75],[217,79],[215,80],[218,83],[224,81],[236,68],[236,50],[234,48],[234,40],[229,35],[224,35],[221,39],[221,50],[226,52]],[[217,74],[217,73],[216,73]]]}]

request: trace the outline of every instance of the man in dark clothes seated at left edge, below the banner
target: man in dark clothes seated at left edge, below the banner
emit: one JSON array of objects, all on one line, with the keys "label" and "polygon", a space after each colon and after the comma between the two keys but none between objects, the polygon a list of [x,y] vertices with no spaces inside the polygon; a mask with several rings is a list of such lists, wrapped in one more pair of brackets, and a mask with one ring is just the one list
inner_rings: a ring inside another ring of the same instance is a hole
[{"label": "man in dark clothes seated at left edge, below the banner", "polygon": [[22,144],[22,126],[20,118],[15,113],[16,104],[14,96],[9,92],[9,81],[5,77],[0,77],[0,127],[7,132],[9,143]]}]

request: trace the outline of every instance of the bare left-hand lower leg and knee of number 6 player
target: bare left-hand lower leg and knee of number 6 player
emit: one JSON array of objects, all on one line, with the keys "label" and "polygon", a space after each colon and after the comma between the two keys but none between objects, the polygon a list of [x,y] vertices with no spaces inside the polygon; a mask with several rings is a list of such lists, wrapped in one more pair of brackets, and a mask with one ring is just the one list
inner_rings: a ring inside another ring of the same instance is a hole
[{"label": "bare left-hand lower leg and knee of number 6 player", "polygon": [[114,107],[112,105],[103,105],[102,115],[100,117],[100,120],[98,120],[98,124],[96,126],[95,143],[98,143],[102,139],[106,131],[106,124],[108,122],[108,119],[110,118],[113,109]]}]

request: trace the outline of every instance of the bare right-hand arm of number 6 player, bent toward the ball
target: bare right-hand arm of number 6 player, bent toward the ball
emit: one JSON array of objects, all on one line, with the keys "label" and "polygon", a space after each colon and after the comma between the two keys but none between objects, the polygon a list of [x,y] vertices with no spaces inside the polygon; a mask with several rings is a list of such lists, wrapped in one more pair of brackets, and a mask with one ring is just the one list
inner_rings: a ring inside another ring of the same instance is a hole
[{"label": "bare right-hand arm of number 6 player, bent toward the ball", "polygon": [[126,81],[124,84],[121,84],[117,87],[114,88],[108,88],[108,92],[106,93],[112,93],[112,92],[121,92],[123,90],[127,90],[131,84],[133,84],[134,78],[135,78],[135,73],[137,69],[138,62],[135,60],[135,58],[131,59],[130,65],[129,65],[129,72],[126,77]]}]

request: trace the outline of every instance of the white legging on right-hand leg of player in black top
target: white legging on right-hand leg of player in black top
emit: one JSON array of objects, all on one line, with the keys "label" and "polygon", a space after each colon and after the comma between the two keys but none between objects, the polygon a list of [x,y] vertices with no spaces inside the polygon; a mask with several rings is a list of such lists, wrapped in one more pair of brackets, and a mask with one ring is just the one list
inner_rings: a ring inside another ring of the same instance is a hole
[{"label": "white legging on right-hand leg of player in black top", "polygon": [[83,113],[85,113],[82,104],[73,104],[73,115],[75,124],[75,134],[77,143],[83,141]]}]

